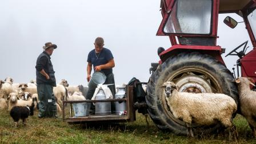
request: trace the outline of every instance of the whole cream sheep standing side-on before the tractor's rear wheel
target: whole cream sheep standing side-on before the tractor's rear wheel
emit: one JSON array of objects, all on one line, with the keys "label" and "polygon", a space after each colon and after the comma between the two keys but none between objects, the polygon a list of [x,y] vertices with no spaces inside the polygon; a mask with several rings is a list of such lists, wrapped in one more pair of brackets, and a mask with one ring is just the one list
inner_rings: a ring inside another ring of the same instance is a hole
[{"label": "whole cream sheep standing side-on before the tractor's rear wheel", "polygon": [[237,111],[237,104],[233,98],[225,94],[179,92],[173,82],[165,82],[163,87],[166,91],[167,105],[175,118],[183,119],[191,137],[194,137],[190,127],[192,121],[209,126],[217,120],[229,128],[231,139],[230,129],[234,126],[231,119],[233,113]]}]

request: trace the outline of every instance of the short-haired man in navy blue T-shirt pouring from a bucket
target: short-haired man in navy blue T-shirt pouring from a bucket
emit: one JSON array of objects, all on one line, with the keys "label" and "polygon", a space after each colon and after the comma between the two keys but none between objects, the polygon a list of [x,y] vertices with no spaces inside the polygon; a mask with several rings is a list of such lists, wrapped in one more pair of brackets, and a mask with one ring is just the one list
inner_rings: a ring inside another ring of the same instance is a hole
[{"label": "short-haired man in navy blue T-shirt pouring from a bucket", "polygon": [[[91,50],[87,58],[87,82],[91,78],[91,70],[101,71],[106,75],[106,82],[104,84],[114,84],[114,74],[113,67],[115,67],[114,57],[111,51],[104,46],[104,40],[101,37],[95,39],[94,43],[95,49]],[[115,95],[115,85],[108,86],[111,90],[113,96]],[[86,94],[86,99],[91,99],[93,97],[95,89],[89,87],[89,90]],[[91,109],[94,109],[91,105]]]}]

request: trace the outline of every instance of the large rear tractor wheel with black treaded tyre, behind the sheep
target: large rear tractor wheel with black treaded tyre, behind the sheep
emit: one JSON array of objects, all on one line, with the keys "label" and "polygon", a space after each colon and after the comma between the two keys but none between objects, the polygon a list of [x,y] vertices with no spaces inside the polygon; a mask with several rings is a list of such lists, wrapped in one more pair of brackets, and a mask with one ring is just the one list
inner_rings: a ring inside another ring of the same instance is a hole
[{"label": "large rear tractor wheel with black treaded tyre, behind the sheep", "polygon": [[[223,93],[238,101],[237,87],[231,72],[210,55],[181,53],[158,66],[147,84],[146,103],[155,125],[177,135],[187,135],[185,123],[171,113],[165,99],[164,82],[173,81],[179,91],[193,93]],[[213,133],[221,130],[220,123],[212,126],[191,125],[194,133]]]}]

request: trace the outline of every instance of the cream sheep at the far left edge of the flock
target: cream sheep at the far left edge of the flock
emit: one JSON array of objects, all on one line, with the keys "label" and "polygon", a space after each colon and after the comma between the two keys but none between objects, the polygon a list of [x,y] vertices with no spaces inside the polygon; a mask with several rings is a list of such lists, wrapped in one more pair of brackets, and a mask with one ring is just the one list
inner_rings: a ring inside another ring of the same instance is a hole
[{"label": "cream sheep at the far left edge of the flock", "polygon": [[12,84],[13,84],[12,78],[5,79],[5,83],[3,83],[0,90],[0,98],[6,99],[10,93],[14,92],[13,87],[11,86]]}]

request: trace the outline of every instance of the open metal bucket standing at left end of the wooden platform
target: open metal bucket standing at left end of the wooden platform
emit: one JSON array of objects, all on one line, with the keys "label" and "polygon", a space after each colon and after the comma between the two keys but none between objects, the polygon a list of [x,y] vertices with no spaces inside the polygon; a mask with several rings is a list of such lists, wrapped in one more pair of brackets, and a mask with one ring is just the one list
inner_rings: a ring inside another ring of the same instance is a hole
[{"label": "open metal bucket standing at left end of the wooden platform", "polygon": [[89,115],[91,103],[73,103],[73,110],[75,112],[75,117],[83,117]]}]

